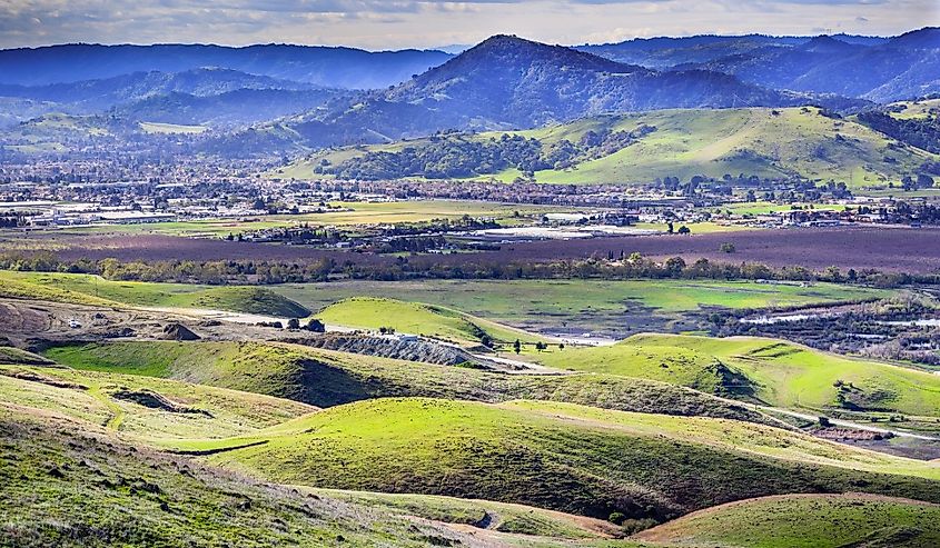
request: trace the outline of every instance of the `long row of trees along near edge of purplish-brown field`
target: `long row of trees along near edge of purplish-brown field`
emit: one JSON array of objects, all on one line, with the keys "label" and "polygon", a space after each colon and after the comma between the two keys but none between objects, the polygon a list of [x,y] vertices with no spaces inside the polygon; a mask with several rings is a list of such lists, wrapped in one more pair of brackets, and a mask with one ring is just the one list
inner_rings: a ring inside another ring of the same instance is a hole
[{"label": "long row of trees along near edge of purplish-brown field", "polygon": [[466,256],[461,263],[394,261],[357,263],[323,258],[309,262],[224,260],[224,261],[62,261],[49,252],[0,253],[0,269],[39,272],[99,275],[109,280],[171,281],[182,283],[300,283],[334,279],[396,281],[410,279],[712,279],[829,281],[871,285],[881,288],[911,283],[940,285],[940,273],[882,272],[874,269],[838,267],[811,270],[800,266],[782,268],[753,262],[719,262],[702,258],[686,262],[681,257],[655,261],[640,253],[613,250],[588,259],[528,262],[505,257],[475,259]]}]

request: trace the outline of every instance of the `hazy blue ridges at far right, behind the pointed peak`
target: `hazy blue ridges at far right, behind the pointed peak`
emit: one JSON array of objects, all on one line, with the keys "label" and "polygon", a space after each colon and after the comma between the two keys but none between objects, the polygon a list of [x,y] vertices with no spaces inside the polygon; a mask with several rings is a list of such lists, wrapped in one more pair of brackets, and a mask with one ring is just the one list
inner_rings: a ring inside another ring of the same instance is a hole
[{"label": "hazy blue ridges at far right, behind the pointed peak", "polygon": [[774,89],[878,102],[938,90],[940,29],[858,37],[699,36],[582,46],[582,51],[660,70],[702,69]]}]

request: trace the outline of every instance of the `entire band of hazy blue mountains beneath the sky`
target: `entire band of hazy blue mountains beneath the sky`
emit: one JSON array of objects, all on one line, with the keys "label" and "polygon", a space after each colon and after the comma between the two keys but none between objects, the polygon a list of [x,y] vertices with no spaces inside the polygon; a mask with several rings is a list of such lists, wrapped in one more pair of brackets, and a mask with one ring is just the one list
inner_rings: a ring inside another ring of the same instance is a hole
[{"label": "entire band of hazy blue mountains beneath the sky", "polygon": [[18,142],[48,127],[48,118],[29,120],[66,113],[87,117],[77,127],[99,124],[95,117],[110,128],[202,126],[212,131],[188,134],[221,155],[673,108],[854,112],[936,92],[934,28],[893,38],[701,36],[576,48],[496,36],[457,56],[274,44],[0,51],[0,128],[19,124]]}]

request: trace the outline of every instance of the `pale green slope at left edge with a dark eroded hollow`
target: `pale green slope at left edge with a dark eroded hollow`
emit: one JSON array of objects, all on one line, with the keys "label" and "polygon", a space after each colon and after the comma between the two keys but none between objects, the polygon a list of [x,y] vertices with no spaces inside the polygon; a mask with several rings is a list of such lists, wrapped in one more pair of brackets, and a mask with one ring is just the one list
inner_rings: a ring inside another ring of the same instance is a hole
[{"label": "pale green slope at left edge with a dark eroded hollow", "polygon": [[55,411],[144,440],[238,436],[316,410],[176,380],[21,366],[0,366],[0,402]]}]

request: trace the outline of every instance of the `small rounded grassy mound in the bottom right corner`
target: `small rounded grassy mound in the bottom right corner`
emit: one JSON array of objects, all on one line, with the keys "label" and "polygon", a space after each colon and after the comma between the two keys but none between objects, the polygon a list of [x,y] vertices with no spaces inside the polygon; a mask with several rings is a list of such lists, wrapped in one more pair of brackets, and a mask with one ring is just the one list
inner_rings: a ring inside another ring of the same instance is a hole
[{"label": "small rounded grassy mound in the bottom right corner", "polygon": [[940,506],[863,495],[768,497],[709,508],[643,531],[670,546],[940,546]]}]

